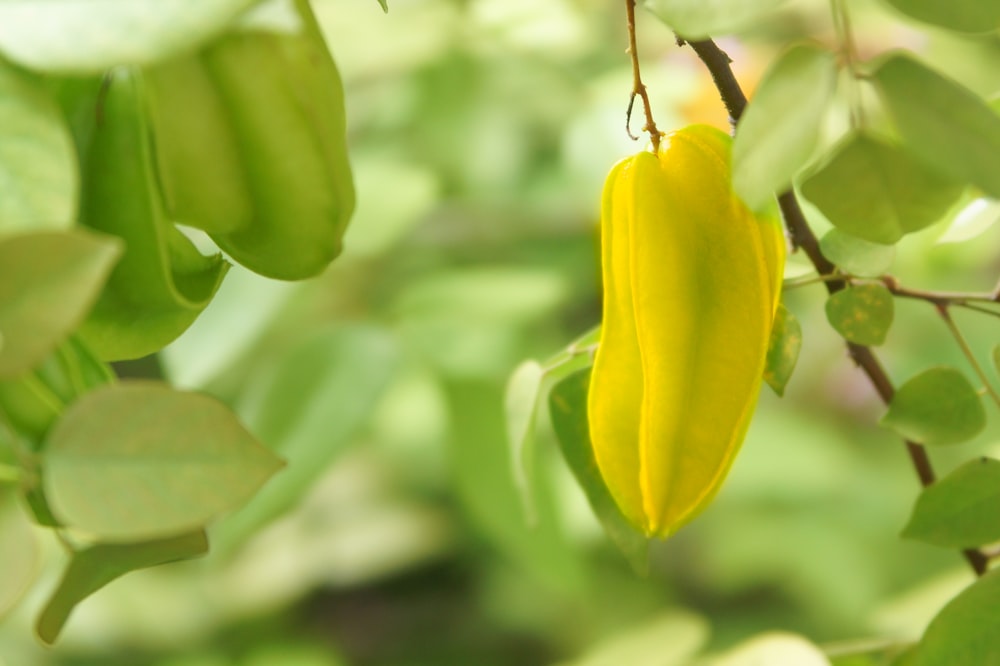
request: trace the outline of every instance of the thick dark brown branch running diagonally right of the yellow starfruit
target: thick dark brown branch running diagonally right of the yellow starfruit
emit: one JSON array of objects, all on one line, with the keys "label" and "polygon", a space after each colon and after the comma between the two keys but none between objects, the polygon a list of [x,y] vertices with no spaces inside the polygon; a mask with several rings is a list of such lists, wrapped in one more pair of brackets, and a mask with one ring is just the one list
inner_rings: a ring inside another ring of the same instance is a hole
[{"label": "thick dark brown branch running diagonally right of the yellow starfruit", "polygon": [[[746,95],[743,94],[739,81],[736,80],[736,76],[733,74],[732,61],[711,39],[690,41],[678,37],[679,44],[685,42],[691,45],[691,48],[694,49],[694,52],[708,68],[709,73],[712,75],[712,80],[715,82],[715,86],[722,97],[722,102],[729,111],[730,121],[735,126],[746,108],[747,99]],[[782,192],[778,196],[778,203],[793,244],[796,247],[802,248],[817,273],[820,275],[835,274],[837,267],[823,256],[819,242],[816,240],[815,234],[813,234],[805,216],[802,214],[802,209],[795,197],[795,193],[791,190]],[[845,280],[830,280],[824,282],[824,284],[827,291],[831,294],[847,286]],[[1000,292],[1000,289],[998,289],[998,292]],[[889,404],[895,394],[895,389],[889,380],[888,374],[882,368],[878,357],[875,356],[869,347],[848,342],[847,348],[851,358],[854,359],[858,367],[867,375],[872,386],[878,392],[879,397],[884,403]],[[916,442],[906,439],[904,439],[904,442],[906,443],[906,451],[909,454],[914,471],[920,479],[920,483],[923,486],[929,486],[934,483],[936,477],[927,451]],[[983,553],[978,550],[968,549],[962,551],[962,554],[977,576],[981,576],[986,572],[988,561]]]}]

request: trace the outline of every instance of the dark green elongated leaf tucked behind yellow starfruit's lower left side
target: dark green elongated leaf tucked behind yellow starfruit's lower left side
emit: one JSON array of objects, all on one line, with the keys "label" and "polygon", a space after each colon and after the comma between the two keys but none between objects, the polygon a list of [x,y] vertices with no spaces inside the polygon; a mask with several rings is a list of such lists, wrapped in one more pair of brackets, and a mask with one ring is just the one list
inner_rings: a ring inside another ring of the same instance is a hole
[{"label": "dark green elongated leaf tucked behind yellow starfruit's lower left side", "polygon": [[618,509],[597,469],[587,422],[589,387],[590,368],[574,372],[553,387],[549,394],[552,428],[566,464],[587,496],[594,515],[632,567],[644,573],[649,567],[649,541]]}]

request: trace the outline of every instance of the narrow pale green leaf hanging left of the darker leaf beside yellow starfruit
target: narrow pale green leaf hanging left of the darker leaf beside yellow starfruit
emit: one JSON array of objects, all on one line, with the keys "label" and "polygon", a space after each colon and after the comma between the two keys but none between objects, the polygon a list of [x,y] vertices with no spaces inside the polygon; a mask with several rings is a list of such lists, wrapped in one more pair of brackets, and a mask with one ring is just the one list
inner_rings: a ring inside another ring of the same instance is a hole
[{"label": "narrow pale green leaf hanging left of the darker leaf beside yellow starfruit", "polygon": [[507,381],[504,412],[507,419],[507,443],[514,462],[514,482],[521,495],[528,521],[535,522],[531,497],[535,421],[545,371],[538,361],[521,363]]}]

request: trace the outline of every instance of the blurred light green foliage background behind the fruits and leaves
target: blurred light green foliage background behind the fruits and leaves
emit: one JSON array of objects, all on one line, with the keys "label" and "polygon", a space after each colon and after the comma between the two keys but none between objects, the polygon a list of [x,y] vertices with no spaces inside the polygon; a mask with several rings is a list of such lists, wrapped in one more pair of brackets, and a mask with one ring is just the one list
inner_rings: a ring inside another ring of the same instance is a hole
[{"label": "blurred light green foliage background behind the fruits and leaves", "polygon": [[[343,256],[305,284],[234,266],[182,338],[119,368],[220,397],[289,466],[214,526],[209,557],[112,583],[51,650],[30,631],[61,557],[42,535],[41,582],[0,624],[0,664],[669,665],[763,631],[820,644],[919,636],[971,575],[958,554],[898,538],[916,476],[876,425],[882,409],[826,323],[819,285],[785,296],[804,335],[785,397],[763,390],[717,501],[654,546],[648,575],[603,535],[544,422],[526,517],[504,386],[520,361],[599,320],[600,188],[642,147],[625,132],[624,3],[390,0],[388,15],[375,0],[314,5],[347,87],[359,204]],[[1000,91],[996,37],[949,36],[876,2],[849,7],[864,56],[913,49],[980,93]],[[693,53],[641,8],[639,23],[661,129],[728,129]],[[786,2],[720,45],[749,90],[803,39],[834,43],[825,1]],[[827,144],[845,124],[832,108]],[[907,237],[893,274],[992,289],[994,221]],[[960,242],[940,242],[946,233]],[[789,277],[807,273],[790,259]],[[956,320],[987,364],[996,319]],[[880,354],[897,383],[941,363],[969,373],[925,303],[897,303]],[[996,421],[935,451],[939,472],[1000,453]]]}]

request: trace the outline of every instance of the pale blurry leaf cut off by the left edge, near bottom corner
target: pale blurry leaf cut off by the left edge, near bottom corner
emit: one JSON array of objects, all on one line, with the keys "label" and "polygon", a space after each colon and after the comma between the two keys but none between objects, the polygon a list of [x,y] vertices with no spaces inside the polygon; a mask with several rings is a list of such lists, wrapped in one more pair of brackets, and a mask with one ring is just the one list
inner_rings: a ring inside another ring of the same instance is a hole
[{"label": "pale blurry leaf cut off by the left edge, near bottom corner", "polygon": [[0,618],[27,591],[41,569],[38,539],[10,493],[0,494]]}]

